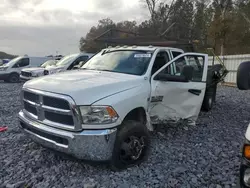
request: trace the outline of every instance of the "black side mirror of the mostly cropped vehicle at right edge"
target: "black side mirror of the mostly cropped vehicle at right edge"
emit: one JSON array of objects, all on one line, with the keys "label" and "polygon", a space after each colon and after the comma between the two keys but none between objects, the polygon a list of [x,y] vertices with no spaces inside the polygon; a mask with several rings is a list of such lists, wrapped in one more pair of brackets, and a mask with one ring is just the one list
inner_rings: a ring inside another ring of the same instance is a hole
[{"label": "black side mirror of the mostly cropped vehicle at right edge", "polygon": [[237,87],[240,90],[250,89],[250,61],[242,62],[237,70]]}]

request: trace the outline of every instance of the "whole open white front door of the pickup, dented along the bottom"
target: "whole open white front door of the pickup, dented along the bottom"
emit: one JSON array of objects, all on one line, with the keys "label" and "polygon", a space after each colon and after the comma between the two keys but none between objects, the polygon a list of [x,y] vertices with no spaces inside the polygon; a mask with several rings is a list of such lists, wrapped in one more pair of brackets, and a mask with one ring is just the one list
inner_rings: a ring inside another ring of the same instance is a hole
[{"label": "whole open white front door of the pickup, dented along the bottom", "polygon": [[[159,73],[178,77],[185,65],[194,67],[193,78],[189,82],[154,79]],[[152,123],[196,121],[206,90],[207,66],[206,54],[182,53],[153,74],[149,108]]]}]

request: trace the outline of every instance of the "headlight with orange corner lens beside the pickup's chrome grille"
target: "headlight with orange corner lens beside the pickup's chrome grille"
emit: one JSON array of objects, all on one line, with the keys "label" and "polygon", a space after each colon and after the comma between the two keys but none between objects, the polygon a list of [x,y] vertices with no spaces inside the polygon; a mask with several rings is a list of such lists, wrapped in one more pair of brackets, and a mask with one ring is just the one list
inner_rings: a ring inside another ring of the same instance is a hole
[{"label": "headlight with orange corner lens beside the pickup's chrome grille", "polygon": [[110,106],[80,106],[83,124],[108,124],[118,119],[118,114]]}]

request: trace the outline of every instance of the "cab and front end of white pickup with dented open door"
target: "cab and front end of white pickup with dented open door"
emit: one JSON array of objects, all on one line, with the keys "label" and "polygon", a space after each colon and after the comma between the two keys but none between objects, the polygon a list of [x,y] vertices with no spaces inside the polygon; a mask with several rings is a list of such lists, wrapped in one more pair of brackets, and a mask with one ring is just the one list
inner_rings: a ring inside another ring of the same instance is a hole
[{"label": "cab and front end of white pickup with dented open door", "polygon": [[26,82],[20,125],[46,147],[126,168],[148,155],[152,124],[196,121],[211,89],[207,73],[207,54],[103,49],[80,69]]}]

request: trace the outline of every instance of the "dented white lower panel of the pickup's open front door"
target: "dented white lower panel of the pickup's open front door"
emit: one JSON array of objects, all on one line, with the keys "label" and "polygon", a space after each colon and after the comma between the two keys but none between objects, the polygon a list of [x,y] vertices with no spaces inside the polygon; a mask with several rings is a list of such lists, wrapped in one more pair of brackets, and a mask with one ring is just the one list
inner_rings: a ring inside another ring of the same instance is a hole
[{"label": "dented white lower panel of the pickup's open front door", "polygon": [[[196,121],[205,93],[205,83],[154,81],[152,87],[149,114],[153,124],[185,119]],[[188,92],[190,88],[200,89],[200,95]]]}]

